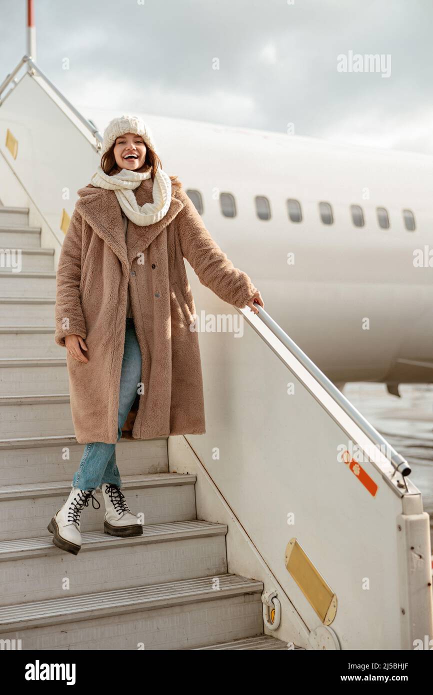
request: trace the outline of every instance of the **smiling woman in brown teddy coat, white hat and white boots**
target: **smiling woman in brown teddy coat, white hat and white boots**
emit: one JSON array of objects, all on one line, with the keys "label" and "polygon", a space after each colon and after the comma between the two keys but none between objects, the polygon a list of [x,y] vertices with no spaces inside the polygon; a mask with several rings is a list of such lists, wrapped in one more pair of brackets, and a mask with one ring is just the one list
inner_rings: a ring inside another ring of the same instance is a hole
[{"label": "smiling woman in brown teddy coat, white hat and white boots", "polygon": [[86,446],[70,497],[48,528],[55,545],[75,555],[80,513],[99,486],[104,531],[142,533],[120,489],[115,444],[124,433],[154,439],[206,432],[199,343],[190,330],[195,304],[183,259],[225,302],[255,313],[254,300],[263,306],[179,179],[163,170],[145,123],[115,118],[101,154],[90,185],[78,191],[56,276],[55,340],[67,348],[72,421],[76,441]]}]

